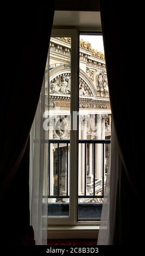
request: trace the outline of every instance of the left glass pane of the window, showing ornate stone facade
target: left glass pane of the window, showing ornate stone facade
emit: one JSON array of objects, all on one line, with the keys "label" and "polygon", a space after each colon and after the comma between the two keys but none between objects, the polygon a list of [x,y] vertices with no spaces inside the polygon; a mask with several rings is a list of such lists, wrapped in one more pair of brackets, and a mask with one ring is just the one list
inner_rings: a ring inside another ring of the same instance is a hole
[{"label": "left glass pane of the window, showing ornate stone facade", "polygon": [[71,38],[51,37],[48,73],[48,216],[69,216]]}]

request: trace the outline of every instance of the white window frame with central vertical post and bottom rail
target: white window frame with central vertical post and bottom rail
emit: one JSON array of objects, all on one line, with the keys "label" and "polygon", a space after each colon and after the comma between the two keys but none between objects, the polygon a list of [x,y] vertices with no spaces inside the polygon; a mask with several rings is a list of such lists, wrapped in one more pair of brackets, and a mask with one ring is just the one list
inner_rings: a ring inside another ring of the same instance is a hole
[{"label": "white window frame with central vertical post and bottom rail", "polygon": [[[86,30],[85,33],[92,31]],[[78,29],[52,29],[53,37],[71,37],[71,109],[70,114],[73,117],[73,111],[79,111],[79,33]],[[97,34],[97,32],[94,32]],[[73,127],[73,118],[71,118],[71,127]],[[77,120],[78,128],[78,120]],[[75,182],[74,182],[75,181]],[[100,221],[78,221],[78,129],[72,130],[70,134],[70,204],[69,216],[48,217],[48,227],[75,225],[79,228],[85,226],[90,229],[91,226],[99,225]],[[69,227],[68,227],[69,228]],[[96,227],[97,229],[97,227]],[[52,229],[50,229],[52,230]],[[55,230],[56,231],[56,230]],[[98,231],[98,230],[97,230]],[[96,233],[95,233],[96,234]]]}]

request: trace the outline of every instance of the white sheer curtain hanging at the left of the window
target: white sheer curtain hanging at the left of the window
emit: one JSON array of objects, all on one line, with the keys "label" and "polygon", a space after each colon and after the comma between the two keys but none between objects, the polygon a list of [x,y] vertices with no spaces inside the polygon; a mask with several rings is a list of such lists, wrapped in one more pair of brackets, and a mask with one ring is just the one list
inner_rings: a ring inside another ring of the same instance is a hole
[{"label": "white sheer curtain hanging at the left of the window", "polygon": [[[34,229],[36,245],[47,245],[47,170],[48,170],[48,131],[43,129],[44,113],[48,110],[45,72],[41,95],[35,119],[30,132],[30,224]],[[48,87],[47,87],[48,88]],[[34,92],[35,97],[35,92]]]}]

